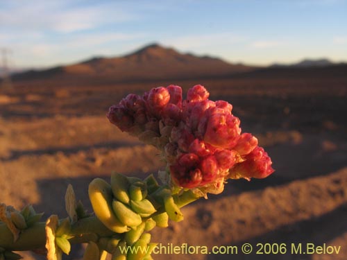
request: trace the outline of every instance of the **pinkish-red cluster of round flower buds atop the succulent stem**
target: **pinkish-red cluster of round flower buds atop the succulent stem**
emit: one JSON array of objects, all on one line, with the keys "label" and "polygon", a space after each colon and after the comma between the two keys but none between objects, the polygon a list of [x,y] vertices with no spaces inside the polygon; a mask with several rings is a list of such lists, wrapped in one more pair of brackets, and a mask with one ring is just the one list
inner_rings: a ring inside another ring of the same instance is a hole
[{"label": "pinkish-red cluster of round flower buds atop the succulent stem", "polygon": [[273,173],[257,139],[241,133],[232,105],[210,101],[209,95],[196,85],[183,100],[179,86],[157,87],[143,96],[129,94],[107,116],[120,130],[162,150],[178,187],[220,193],[229,178],[250,180]]}]

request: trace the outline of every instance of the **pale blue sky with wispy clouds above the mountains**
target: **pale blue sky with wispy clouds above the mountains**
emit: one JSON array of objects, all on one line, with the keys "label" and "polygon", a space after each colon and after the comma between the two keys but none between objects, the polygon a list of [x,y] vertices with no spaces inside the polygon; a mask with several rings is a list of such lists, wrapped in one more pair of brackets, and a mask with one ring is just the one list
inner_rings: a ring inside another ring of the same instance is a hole
[{"label": "pale blue sky with wispy clouds above the mountains", "polygon": [[118,56],[158,42],[228,62],[347,61],[347,0],[0,0],[11,67]]}]

